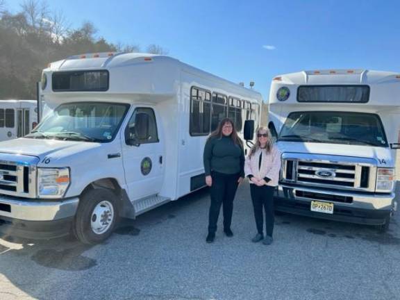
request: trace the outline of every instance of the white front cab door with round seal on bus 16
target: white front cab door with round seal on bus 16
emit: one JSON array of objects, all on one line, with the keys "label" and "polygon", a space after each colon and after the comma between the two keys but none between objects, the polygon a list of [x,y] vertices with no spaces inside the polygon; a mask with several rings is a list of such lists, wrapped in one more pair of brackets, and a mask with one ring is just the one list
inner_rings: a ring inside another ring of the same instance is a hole
[{"label": "white front cab door with round seal on bus 16", "polygon": [[135,108],[122,140],[125,180],[131,201],[160,192],[164,178],[164,139],[153,108]]}]

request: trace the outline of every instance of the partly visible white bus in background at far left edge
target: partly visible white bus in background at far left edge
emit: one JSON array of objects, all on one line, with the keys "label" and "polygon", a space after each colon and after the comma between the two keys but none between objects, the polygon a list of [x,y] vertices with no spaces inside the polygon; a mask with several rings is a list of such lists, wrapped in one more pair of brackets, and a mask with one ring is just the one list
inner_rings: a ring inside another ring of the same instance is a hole
[{"label": "partly visible white bus in background at far left edge", "polygon": [[38,101],[0,100],[0,141],[22,138],[38,125]]}]

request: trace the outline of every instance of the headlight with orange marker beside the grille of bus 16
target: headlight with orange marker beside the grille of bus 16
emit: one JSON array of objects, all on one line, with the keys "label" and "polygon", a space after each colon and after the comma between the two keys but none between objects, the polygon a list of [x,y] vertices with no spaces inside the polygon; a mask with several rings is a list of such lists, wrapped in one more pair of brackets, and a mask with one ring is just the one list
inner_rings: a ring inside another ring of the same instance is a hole
[{"label": "headlight with orange marker beside the grille of bus 16", "polygon": [[62,198],[69,187],[69,168],[38,168],[38,197]]}]

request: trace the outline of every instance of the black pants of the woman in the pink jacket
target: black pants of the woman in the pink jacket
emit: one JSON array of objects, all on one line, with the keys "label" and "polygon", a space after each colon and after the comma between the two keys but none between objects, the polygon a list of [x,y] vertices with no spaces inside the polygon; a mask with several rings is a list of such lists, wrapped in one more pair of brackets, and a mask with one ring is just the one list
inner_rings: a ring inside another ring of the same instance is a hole
[{"label": "black pants of the woman in the pink jacket", "polygon": [[263,185],[261,187],[251,184],[250,194],[253,201],[254,218],[257,231],[263,234],[263,207],[265,210],[265,229],[267,235],[272,237],[274,231],[274,187]]}]

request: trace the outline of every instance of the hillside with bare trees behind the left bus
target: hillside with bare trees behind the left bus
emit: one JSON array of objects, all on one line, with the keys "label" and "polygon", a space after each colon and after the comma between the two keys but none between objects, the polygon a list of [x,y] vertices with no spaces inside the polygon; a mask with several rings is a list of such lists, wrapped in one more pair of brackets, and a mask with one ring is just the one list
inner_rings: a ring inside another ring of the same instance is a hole
[{"label": "hillside with bare trees behind the left bus", "polygon": [[[0,0],[0,99],[35,99],[35,83],[52,61],[80,53],[140,50],[108,42],[91,22],[72,28],[63,12],[52,11],[44,1],[23,1],[19,12],[11,13]],[[166,53],[156,44],[144,51]]]}]

